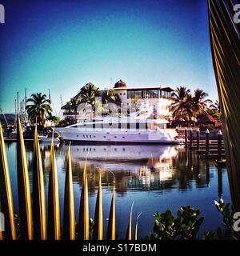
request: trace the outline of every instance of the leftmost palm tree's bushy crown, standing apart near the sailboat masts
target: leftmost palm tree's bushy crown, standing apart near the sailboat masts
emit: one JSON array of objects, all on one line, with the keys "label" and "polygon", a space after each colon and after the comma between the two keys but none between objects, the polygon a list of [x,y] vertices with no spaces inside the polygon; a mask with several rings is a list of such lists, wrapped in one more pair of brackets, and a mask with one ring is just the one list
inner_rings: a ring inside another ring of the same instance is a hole
[{"label": "leftmost palm tree's bushy crown, standing apart near the sailboat masts", "polygon": [[46,94],[37,93],[31,94],[31,97],[26,102],[30,103],[26,106],[30,121],[44,125],[46,114],[52,112],[50,99],[46,98]]}]

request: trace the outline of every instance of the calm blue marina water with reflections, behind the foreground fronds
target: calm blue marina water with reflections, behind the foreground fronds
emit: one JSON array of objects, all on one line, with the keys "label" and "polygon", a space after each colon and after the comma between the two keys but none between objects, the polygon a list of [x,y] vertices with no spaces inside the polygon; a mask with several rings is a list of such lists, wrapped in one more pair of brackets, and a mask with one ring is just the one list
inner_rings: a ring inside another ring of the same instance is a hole
[{"label": "calm blue marina water with reflections, behind the foreground fronds", "polygon": [[[49,177],[50,145],[40,144],[46,184]],[[18,188],[16,173],[16,144],[6,143],[10,177],[14,195],[14,207],[18,211]],[[64,183],[67,146],[56,146],[58,183],[61,214],[63,212]],[[26,154],[32,181],[32,144],[26,143]],[[223,194],[230,202],[230,191],[226,168],[217,168],[214,161],[191,154],[182,146],[82,146],[72,145],[74,177],[74,200],[78,220],[82,166],[88,156],[88,182],[90,194],[90,218],[94,218],[94,207],[98,190],[98,171],[102,172],[102,196],[105,233],[110,210],[111,191],[116,178],[116,229],[120,238],[125,238],[130,206],[134,202],[134,218],[139,218],[140,237],[153,227],[156,211],[170,209],[176,214],[180,206],[194,206],[201,210],[205,220],[202,230],[216,230],[222,218],[215,209],[214,200]],[[114,175],[113,175],[114,174]],[[62,217],[62,215],[61,215]]]}]

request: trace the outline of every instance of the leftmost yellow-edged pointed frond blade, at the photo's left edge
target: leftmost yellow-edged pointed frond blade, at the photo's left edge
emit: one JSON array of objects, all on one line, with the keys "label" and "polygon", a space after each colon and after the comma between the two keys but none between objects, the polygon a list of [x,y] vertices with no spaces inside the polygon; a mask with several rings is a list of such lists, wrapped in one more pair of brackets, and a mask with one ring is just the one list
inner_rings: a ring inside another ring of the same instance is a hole
[{"label": "leftmost yellow-edged pointed frond blade, at the photo's left edge", "polygon": [[14,203],[10,183],[10,173],[6,159],[6,149],[0,122],[0,202],[5,216],[5,238],[16,239]]}]

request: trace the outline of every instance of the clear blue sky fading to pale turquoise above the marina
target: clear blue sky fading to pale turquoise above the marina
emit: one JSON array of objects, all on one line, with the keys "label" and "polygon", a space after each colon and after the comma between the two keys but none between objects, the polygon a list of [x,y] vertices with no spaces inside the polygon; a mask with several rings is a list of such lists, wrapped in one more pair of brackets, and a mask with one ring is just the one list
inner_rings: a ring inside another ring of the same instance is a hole
[{"label": "clear blue sky fading to pale turquoise above the marina", "polygon": [[218,97],[205,0],[6,0],[0,24],[0,105],[48,94],[60,109],[87,82],[99,88],[187,86]]}]

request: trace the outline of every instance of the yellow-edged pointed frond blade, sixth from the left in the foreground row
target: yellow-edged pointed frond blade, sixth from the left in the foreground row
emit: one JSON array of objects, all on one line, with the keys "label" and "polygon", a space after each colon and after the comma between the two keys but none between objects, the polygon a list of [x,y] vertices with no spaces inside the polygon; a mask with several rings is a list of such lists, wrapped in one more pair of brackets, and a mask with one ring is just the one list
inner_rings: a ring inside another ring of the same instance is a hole
[{"label": "yellow-edged pointed frond blade, sixth from the left in the foreground row", "polygon": [[82,192],[79,210],[79,238],[83,240],[89,240],[90,230],[89,230],[89,206],[88,206],[88,186],[87,186],[87,176],[86,176],[86,161],[83,167],[82,175]]}]

